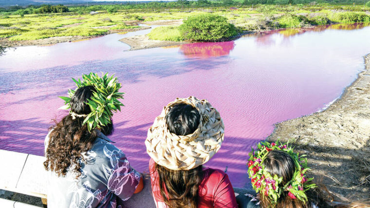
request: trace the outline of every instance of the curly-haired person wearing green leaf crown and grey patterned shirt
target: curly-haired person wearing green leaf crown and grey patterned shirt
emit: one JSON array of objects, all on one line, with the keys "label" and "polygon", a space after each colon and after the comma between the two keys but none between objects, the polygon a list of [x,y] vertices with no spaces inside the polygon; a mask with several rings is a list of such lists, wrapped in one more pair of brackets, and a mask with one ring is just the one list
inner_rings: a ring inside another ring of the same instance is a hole
[{"label": "curly-haired person wearing green leaf crown and grey patterned shirt", "polygon": [[45,138],[44,167],[48,171],[49,208],[115,208],[141,191],[141,174],[107,135],[113,132],[112,111],[123,104],[121,84],[114,76],[90,73],[75,80],[61,109],[70,109],[55,121]]}]

